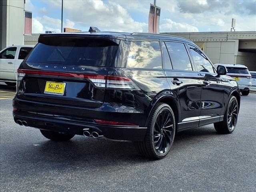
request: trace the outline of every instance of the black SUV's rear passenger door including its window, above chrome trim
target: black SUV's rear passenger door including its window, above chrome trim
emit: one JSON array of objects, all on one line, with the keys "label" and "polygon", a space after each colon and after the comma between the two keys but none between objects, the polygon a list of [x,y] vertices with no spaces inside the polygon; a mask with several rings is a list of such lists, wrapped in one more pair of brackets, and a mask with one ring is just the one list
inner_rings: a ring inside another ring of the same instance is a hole
[{"label": "black SUV's rear passenger door including its window, above chrome trim", "polygon": [[[184,43],[171,41],[161,43],[166,77],[180,105],[178,129],[198,127],[202,90],[200,76],[192,66]],[[167,54],[169,58],[165,56]]]}]

